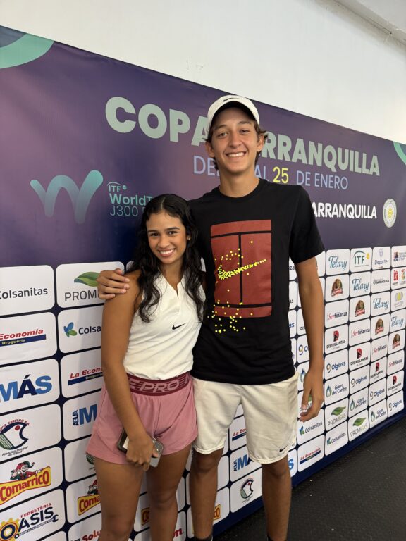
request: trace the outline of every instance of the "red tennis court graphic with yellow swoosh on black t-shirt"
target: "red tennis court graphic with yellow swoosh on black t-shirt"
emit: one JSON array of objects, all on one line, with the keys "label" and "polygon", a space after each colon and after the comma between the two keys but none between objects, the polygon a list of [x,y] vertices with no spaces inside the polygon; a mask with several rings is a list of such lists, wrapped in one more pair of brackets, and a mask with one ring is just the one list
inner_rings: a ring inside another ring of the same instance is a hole
[{"label": "red tennis court graphic with yellow swoosh on black t-shirt", "polygon": [[228,326],[235,331],[242,330],[242,318],[270,316],[271,220],[212,225],[211,249],[216,268],[214,316],[230,318]]}]

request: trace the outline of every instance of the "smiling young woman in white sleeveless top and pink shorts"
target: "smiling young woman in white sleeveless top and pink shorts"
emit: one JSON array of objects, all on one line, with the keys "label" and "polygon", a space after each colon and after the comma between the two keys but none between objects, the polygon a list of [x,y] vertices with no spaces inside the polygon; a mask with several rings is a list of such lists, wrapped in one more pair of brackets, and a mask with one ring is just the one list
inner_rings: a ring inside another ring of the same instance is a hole
[{"label": "smiling young woman in white sleeveless top and pink shorts", "polygon": [[[176,490],[197,435],[189,376],[204,292],[197,230],[187,202],[173,194],[144,209],[130,288],[106,302],[101,333],[105,386],[87,452],[101,503],[99,541],[128,541],[147,471],[152,541],[172,541]],[[117,448],[127,433],[126,453]],[[164,444],[156,468],[152,437]]]}]

